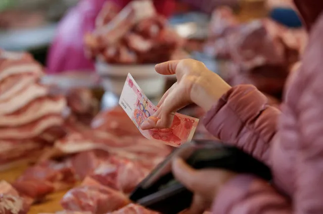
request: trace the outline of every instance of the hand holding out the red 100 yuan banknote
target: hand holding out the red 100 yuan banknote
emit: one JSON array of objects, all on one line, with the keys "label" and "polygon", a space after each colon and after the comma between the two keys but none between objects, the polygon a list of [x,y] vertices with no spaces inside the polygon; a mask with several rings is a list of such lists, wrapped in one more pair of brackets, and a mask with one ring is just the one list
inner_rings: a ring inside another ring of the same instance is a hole
[{"label": "hand holding out the red 100 yuan banknote", "polygon": [[164,75],[176,74],[177,82],[161,98],[155,114],[142,124],[143,130],[169,127],[174,112],[191,103],[208,111],[231,88],[221,77],[196,60],[168,61],[157,64],[155,69]]}]

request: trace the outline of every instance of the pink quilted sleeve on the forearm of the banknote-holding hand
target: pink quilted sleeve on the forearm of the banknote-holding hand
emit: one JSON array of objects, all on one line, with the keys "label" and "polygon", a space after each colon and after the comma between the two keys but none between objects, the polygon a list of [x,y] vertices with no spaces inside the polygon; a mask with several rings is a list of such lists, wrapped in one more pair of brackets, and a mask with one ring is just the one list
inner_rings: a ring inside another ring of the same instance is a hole
[{"label": "pink quilted sleeve on the forearm of the banknote-holding hand", "polygon": [[267,101],[254,86],[238,85],[206,113],[203,122],[218,139],[270,165],[268,149],[281,112]]}]

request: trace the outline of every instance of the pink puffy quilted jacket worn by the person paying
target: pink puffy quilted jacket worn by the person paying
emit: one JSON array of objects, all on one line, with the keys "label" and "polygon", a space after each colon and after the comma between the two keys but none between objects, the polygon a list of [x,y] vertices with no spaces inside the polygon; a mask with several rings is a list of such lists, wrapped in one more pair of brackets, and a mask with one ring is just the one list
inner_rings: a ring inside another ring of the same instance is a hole
[{"label": "pink puffy quilted jacket worn by the person paying", "polygon": [[267,163],[273,184],[239,175],[219,190],[213,213],[323,213],[323,1],[294,2],[310,38],[282,112],[253,86],[238,85],[204,118],[210,133]]}]

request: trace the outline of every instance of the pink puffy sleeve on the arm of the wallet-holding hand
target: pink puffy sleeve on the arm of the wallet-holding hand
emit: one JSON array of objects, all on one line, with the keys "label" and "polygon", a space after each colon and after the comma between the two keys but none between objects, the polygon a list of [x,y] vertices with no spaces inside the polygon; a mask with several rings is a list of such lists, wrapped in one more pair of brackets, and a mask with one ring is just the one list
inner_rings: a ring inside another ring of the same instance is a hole
[{"label": "pink puffy sleeve on the arm of the wallet-holding hand", "polygon": [[223,186],[212,212],[216,214],[290,214],[291,202],[268,183],[249,175],[240,175]]}]

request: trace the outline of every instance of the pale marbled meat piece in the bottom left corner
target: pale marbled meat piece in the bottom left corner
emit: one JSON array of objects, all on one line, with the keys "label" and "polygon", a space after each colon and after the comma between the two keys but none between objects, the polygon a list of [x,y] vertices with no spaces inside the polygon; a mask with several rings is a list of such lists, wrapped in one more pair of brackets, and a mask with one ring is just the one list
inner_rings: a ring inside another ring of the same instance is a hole
[{"label": "pale marbled meat piece in the bottom left corner", "polygon": [[25,214],[30,204],[6,181],[0,182],[0,213]]}]

